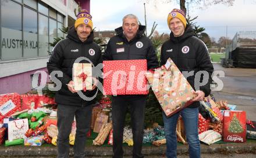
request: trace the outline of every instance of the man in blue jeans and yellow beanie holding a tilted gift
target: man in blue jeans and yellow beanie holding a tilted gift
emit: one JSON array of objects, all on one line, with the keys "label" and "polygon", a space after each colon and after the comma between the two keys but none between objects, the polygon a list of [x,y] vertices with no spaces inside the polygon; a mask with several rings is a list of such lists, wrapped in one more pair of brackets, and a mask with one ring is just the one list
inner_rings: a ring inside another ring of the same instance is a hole
[{"label": "man in blue jeans and yellow beanie holding a tilted gift", "polygon": [[[182,115],[186,128],[186,138],[189,143],[190,158],[200,157],[200,141],[198,139],[198,106],[199,101],[210,93],[211,75],[214,71],[208,49],[204,42],[196,38],[193,29],[187,25],[185,14],[180,9],[173,9],[167,19],[170,28],[170,39],[163,43],[161,48],[161,65],[165,65],[168,58],[171,58],[197,94],[192,101],[193,104],[182,109],[170,117],[163,113],[166,134],[166,156],[177,157],[176,124],[179,115]],[[195,75],[197,72],[202,74]],[[206,82],[205,82],[206,79]],[[203,83],[204,80],[204,84]],[[203,86],[200,86],[202,84]]]}]

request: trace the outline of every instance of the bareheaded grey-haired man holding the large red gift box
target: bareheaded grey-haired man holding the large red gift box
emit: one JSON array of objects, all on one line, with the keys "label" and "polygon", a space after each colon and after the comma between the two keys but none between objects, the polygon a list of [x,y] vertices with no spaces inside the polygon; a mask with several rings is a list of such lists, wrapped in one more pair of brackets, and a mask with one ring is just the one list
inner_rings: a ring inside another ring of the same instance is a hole
[{"label": "bareheaded grey-haired man holding the large red gift box", "polygon": [[[103,60],[147,59],[147,68],[157,68],[158,59],[149,38],[143,35],[145,26],[138,25],[134,14],[123,17],[122,27],[116,28],[106,47]],[[133,131],[133,158],[143,157],[144,109],[147,95],[117,95],[112,97],[113,158],[123,157],[123,127],[130,105]]]}]

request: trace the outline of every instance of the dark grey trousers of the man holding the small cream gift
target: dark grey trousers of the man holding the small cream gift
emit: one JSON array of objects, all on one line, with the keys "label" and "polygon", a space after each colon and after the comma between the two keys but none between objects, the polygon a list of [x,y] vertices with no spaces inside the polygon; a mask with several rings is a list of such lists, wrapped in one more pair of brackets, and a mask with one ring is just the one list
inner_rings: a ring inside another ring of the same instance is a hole
[{"label": "dark grey trousers of the man holding the small cream gift", "polygon": [[84,158],[84,147],[86,145],[86,133],[90,130],[91,112],[93,106],[68,106],[58,105],[58,138],[57,138],[57,158],[69,157],[69,134],[71,132],[74,117],[76,117],[76,137],[74,139],[74,157]]}]

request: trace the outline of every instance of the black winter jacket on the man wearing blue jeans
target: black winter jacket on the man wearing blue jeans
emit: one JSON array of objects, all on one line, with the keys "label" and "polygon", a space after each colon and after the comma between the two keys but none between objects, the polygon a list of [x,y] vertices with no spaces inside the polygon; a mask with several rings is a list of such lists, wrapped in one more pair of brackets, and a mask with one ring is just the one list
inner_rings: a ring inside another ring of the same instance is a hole
[{"label": "black winter jacket on the man wearing blue jeans", "polygon": [[[198,71],[208,72],[209,79],[207,84],[200,86],[200,90],[204,91],[205,97],[207,97],[211,92],[210,83],[212,81],[211,75],[214,67],[211,63],[207,46],[194,35],[194,31],[189,25],[186,27],[182,36],[175,37],[171,32],[170,39],[163,43],[161,48],[161,65],[164,65],[170,57],[180,71],[194,71],[194,75],[187,77],[193,89],[195,89],[195,74]],[[201,82],[202,79],[201,75]],[[195,108],[198,106],[199,102],[194,102],[189,107]]]}]

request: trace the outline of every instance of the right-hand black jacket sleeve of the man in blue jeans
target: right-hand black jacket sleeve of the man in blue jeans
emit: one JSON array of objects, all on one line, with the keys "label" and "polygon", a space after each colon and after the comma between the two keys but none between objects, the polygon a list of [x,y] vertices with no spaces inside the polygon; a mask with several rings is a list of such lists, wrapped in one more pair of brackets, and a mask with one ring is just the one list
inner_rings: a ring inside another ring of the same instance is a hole
[{"label": "right-hand black jacket sleeve of the man in blue jeans", "polygon": [[[211,59],[209,57],[208,49],[200,41],[200,46],[198,47],[198,54],[196,57],[197,60],[197,67],[199,71],[205,71],[209,75],[209,79],[204,86],[200,86],[200,90],[204,91],[205,97],[207,97],[211,93],[210,84],[212,82],[212,72],[214,72],[214,66],[211,63]],[[202,82],[204,76],[201,75],[200,82]]]}]

